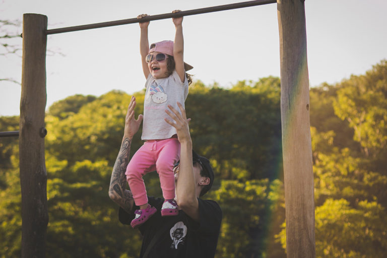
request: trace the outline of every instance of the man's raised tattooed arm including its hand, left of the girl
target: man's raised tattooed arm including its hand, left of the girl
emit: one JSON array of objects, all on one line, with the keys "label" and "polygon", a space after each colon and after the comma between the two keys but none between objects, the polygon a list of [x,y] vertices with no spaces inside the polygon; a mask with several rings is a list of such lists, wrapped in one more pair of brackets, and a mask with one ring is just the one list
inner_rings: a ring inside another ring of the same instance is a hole
[{"label": "man's raised tattooed arm including its hand, left of the girl", "polygon": [[132,210],[134,200],[132,198],[132,192],[126,189],[127,182],[125,171],[126,166],[129,163],[133,136],[139,130],[143,119],[143,115],[139,115],[139,118],[137,120],[135,119],[135,106],[136,98],[132,96],[126,112],[121,148],[114,163],[109,186],[110,199],[127,212]]}]

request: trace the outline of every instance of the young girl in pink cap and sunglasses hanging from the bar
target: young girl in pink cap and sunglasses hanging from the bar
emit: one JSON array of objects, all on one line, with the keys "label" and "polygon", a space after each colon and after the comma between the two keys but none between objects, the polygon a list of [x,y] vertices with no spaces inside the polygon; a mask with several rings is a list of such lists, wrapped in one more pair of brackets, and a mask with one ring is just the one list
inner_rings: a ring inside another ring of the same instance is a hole
[{"label": "young girl in pink cap and sunglasses hanging from the bar", "polygon": [[[173,13],[178,11],[173,11]],[[138,19],[147,15],[139,15]],[[173,41],[161,41],[148,48],[149,22],[140,23],[140,52],[142,66],[147,82],[144,100],[144,124],[142,140],[144,145],[135,153],[126,168],[126,180],[133,193],[135,204],[140,207],[131,225],[141,225],[156,212],[148,204],[143,175],[156,170],[160,177],[161,189],[165,199],[161,208],[162,216],[177,215],[175,198],[174,164],[180,159],[180,143],[176,130],[164,118],[165,110],[176,102],[184,104],[188,95],[190,76],[185,73],[192,69],[183,61],[182,17],[172,18],[176,34]]]}]

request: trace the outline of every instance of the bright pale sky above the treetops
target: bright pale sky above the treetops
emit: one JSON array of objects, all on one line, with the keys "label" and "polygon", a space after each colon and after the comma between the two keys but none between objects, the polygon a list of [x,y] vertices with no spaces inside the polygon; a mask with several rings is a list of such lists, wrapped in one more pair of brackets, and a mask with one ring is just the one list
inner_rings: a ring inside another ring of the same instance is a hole
[{"label": "bright pale sky above the treetops", "polygon": [[[0,19],[43,14],[48,29],[54,29],[235,2],[243,1],[0,0]],[[310,86],[364,74],[387,59],[386,11],[385,0],[306,0]],[[206,85],[230,87],[239,80],[280,76],[276,4],[187,16],[183,33],[184,60],[194,67],[193,78]],[[46,58],[46,108],[74,94],[143,89],[139,36],[138,24],[48,35],[47,49],[56,54]],[[171,19],[151,22],[150,43],[173,38]],[[0,78],[20,82],[21,71],[20,57],[0,56]],[[0,116],[20,113],[20,92],[20,85],[0,81]]]}]

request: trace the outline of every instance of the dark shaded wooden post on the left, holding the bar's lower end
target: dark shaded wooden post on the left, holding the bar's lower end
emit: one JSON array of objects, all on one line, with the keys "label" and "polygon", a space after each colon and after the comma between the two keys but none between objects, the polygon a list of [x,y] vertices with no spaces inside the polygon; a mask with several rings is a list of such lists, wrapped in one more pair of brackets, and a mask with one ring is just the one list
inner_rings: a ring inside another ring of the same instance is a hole
[{"label": "dark shaded wooden post on the left, holding the bar's lower end", "polygon": [[20,184],[22,257],[45,257],[48,223],[44,158],[47,17],[23,15],[23,68],[20,100]]}]

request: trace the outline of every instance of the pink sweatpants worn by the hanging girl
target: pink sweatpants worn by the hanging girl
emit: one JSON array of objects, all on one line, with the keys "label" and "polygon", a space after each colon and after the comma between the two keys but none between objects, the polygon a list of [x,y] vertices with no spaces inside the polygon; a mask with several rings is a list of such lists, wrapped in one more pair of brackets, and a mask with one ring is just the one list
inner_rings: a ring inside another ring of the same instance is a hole
[{"label": "pink sweatpants worn by the hanging girl", "polygon": [[133,155],[126,167],[126,180],[137,206],[148,203],[143,175],[157,171],[165,200],[175,198],[173,166],[180,159],[180,143],[177,138],[146,141]]}]

